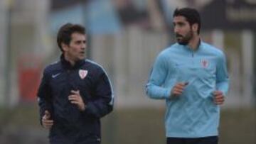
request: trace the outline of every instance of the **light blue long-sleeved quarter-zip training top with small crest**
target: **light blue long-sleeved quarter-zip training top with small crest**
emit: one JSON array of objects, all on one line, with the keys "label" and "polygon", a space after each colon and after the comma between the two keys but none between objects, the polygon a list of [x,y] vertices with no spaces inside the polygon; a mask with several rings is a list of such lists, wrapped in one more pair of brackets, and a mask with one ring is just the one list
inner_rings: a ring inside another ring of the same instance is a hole
[{"label": "light blue long-sleeved quarter-zip training top with small crest", "polygon": [[[170,98],[177,82],[188,82],[181,96]],[[146,94],[166,100],[166,137],[218,135],[220,107],[213,92],[226,96],[229,78],[223,52],[201,41],[197,50],[175,43],[163,50],[151,70]]]}]

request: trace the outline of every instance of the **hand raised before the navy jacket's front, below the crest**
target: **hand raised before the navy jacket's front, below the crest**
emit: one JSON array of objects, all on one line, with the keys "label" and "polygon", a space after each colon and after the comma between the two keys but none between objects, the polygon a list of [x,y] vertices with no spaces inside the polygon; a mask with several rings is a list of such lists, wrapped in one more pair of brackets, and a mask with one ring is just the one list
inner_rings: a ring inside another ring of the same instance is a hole
[{"label": "hand raised before the navy jacket's front, below the crest", "polygon": [[68,96],[68,100],[70,100],[71,104],[76,104],[80,111],[85,111],[85,103],[84,101],[82,101],[82,97],[80,95],[79,90],[71,90],[71,94]]}]

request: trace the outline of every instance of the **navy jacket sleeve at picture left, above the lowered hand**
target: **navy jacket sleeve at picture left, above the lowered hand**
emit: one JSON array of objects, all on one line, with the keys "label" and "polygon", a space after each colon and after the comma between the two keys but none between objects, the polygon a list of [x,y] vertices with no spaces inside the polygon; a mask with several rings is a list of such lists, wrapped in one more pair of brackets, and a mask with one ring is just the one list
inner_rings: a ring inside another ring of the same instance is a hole
[{"label": "navy jacket sleeve at picture left, above the lowered hand", "polygon": [[44,111],[50,111],[52,115],[52,102],[51,102],[51,90],[48,85],[48,76],[46,71],[43,72],[43,78],[41,79],[41,84],[38,88],[38,105],[40,112],[40,122],[44,115]]}]

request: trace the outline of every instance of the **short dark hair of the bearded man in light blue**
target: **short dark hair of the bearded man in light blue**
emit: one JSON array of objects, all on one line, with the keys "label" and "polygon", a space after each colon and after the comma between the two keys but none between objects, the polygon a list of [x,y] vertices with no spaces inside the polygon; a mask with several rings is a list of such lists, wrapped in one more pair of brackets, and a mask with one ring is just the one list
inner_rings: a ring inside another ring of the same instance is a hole
[{"label": "short dark hair of the bearded man in light blue", "polygon": [[186,21],[192,26],[194,23],[198,23],[198,31],[197,33],[200,33],[201,29],[201,18],[200,14],[196,9],[192,8],[182,8],[182,9],[175,9],[174,11],[174,17],[175,16],[184,16],[186,18]]}]

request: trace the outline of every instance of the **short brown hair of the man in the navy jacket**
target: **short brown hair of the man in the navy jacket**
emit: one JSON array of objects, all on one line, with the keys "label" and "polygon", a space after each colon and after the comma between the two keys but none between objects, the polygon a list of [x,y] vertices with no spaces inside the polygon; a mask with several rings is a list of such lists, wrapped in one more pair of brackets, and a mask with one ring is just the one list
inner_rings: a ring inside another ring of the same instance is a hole
[{"label": "short brown hair of the man in the navy jacket", "polygon": [[85,34],[85,27],[79,24],[66,23],[60,27],[57,35],[57,43],[60,50],[63,52],[61,48],[61,43],[65,43],[66,45],[70,44],[71,35],[73,33],[81,33]]}]

